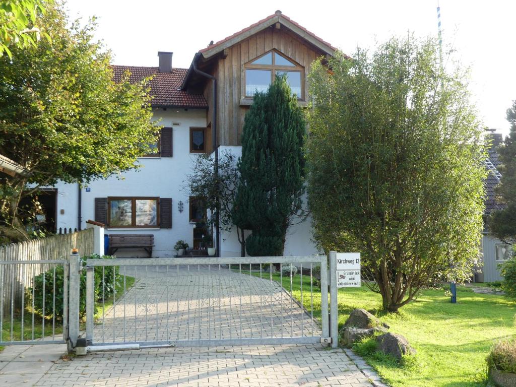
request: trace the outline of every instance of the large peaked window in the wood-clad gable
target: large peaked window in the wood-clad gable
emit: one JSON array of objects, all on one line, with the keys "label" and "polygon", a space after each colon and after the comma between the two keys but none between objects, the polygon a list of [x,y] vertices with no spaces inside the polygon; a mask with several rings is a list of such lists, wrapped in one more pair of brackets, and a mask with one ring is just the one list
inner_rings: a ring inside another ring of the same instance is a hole
[{"label": "large peaked window in the wood-clad gable", "polygon": [[265,92],[277,75],[285,74],[292,93],[298,100],[304,99],[304,68],[276,50],[259,56],[245,65],[246,98],[256,91]]}]

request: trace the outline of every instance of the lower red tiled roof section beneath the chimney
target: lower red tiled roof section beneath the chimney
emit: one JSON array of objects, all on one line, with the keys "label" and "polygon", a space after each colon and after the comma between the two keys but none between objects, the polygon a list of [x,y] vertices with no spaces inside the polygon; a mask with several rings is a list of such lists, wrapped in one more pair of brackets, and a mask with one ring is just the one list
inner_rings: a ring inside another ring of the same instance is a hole
[{"label": "lower red tiled roof section beneath the chimney", "polygon": [[169,107],[190,107],[207,108],[208,104],[202,94],[188,94],[185,90],[180,90],[183,79],[188,69],[172,69],[171,73],[160,73],[157,67],[139,66],[113,66],[114,80],[120,82],[125,71],[131,73],[129,80],[137,83],[143,78],[154,75],[149,82],[150,94],[153,99],[153,106]]}]

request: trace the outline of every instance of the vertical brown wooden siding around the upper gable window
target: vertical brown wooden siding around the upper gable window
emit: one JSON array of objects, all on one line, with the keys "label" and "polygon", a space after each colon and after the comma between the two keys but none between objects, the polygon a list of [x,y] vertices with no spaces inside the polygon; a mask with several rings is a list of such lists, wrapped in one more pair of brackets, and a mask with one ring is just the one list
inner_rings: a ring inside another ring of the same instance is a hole
[{"label": "vertical brown wooden siding around the upper gable window", "polygon": [[[240,106],[245,95],[244,65],[250,60],[276,49],[304,67],[304,100],[309,100],[308,77],[312,62],[324,53],[304,42],[297,35],[281,26],[269,27],[227,50],[227,57],[215,61],[211,73],[217,77],[217,128],[220,145],[240,145],[244,117],[249,106]],[[212,106],[211,82],[204,89],[208,106]],[[206,112],[207,122],[211,111]]]}]

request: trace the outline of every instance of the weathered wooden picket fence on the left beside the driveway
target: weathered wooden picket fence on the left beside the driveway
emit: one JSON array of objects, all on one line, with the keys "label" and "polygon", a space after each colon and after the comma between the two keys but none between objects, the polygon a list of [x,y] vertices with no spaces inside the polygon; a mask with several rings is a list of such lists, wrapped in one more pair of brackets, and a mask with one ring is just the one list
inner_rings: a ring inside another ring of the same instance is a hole
[{"label": "weathered wooden picket fence on the left beside the driveway", "polygon": [[[79,249],[80,255],[92,254],[93,229],[2,246],[0,261],[63,260],[68,259],[73,248]],[[4,310],[8,310],[12,301],[19,304],[22,294],[31,286],[34,277],[49,269],[46,266],[37,263],[3,265],[0,299],[3,300]]]}]

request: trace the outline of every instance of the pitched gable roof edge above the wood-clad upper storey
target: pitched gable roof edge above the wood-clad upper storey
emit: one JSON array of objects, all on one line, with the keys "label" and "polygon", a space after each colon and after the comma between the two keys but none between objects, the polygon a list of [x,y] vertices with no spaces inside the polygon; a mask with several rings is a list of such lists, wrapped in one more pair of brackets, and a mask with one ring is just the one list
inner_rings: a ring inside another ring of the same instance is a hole
[{"label": "pitched gable roof edge above the wood-clad upper storey", "polygon": [[285,27],[292,30],[301,38],[309,41],[319,50],[325,52],[326,54],[333,55],[336,50],[336,48],[333,47],[330,43],[322,40],[314,33],[311,33],[308,29],[296,23],[291,18],[282,14],[281,11],[278,10],[272,15],[266,17],[265,19],[262,19],[259,22],[251,24],[249,27],[246,27],[233,35],[230,35],[222,40],[219,40],[217,43],[211,44],[207,46],[205,49],[200,50],[199,52],[202,54],[204,58],[207,59],[221,52],[222,50],[231,47],[239,41],[247,39],[248,37],[256,33],[259,33],[261,30],[270,27],[271,25],[274,25],[276,23],[283,24]]}]

